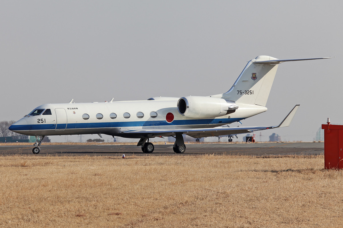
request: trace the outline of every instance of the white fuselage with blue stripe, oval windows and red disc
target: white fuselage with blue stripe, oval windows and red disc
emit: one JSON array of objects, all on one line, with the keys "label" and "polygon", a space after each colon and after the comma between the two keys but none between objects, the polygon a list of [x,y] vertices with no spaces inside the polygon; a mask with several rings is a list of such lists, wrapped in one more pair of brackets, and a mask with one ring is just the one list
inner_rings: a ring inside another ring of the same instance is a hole
[{"label": "white fuselage with blue stripe, oval windows and red disc", "polygon": [[237,104],[235,112],[215,118],[188,118],[177,100],[137,100],[102,103],[44,104],[10,126],[24,135],[107,134],[140,138],[123,132],[134,129],[213,128],[267,111],[259,105]]}]

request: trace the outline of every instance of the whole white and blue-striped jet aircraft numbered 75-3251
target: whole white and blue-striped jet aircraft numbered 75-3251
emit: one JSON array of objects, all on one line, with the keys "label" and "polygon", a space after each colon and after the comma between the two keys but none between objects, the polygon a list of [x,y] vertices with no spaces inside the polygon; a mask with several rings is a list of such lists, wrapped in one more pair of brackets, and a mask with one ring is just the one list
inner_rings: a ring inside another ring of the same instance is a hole
[{"label": "whole white and blue-striped jet aircraft numbered 75-3251", "polygon": [[[330,58],[330,57],[328,57]],[[248,133],[288,126],[299,105],[275,126],[221,127],[267,111],[265,107],[280,63],[323,58],[276,59],[257,56],[248,62],[229,91],[212,96],[153,97],[148,100],[103,103],[45,104],[10,126],[36,136],[39,153],[45,135],[101,134],[140,139],[137,146],[151,153],[153,137],[175,137],[173,150],[184,153],[182,134],[194,138]]]}]

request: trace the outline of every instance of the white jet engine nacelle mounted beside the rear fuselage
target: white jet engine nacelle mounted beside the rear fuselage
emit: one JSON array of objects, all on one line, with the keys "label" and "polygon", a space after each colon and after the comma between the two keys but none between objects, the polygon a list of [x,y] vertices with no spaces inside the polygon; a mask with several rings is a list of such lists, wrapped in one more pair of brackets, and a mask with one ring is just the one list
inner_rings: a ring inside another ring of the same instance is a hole
[{"label": "white jet engine nacelle mounted beside the rear fuselage", "polygon": [[177,102],[179,113],[190,118],[220,117],[236,109],[238,106],[234,101],[215,97],[188,96],[181,97]]}]

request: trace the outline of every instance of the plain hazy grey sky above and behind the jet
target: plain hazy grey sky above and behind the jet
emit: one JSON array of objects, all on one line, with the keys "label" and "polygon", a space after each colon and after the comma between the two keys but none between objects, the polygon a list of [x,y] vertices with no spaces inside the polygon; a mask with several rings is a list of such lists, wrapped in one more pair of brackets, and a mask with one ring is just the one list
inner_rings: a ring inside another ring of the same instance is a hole
[{"label": "plain hazy grey sky above and behind the jet", "polygon": [[[1,1],[0,120],[45,103],[207,96],[229,90],[246,62],[282,63],[268,111],[284,140],[312,140],[341,123],[342,1]],[[236,125],[236,124],[233,124]]]}]

